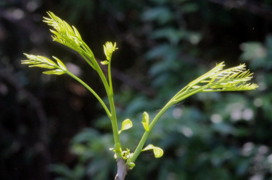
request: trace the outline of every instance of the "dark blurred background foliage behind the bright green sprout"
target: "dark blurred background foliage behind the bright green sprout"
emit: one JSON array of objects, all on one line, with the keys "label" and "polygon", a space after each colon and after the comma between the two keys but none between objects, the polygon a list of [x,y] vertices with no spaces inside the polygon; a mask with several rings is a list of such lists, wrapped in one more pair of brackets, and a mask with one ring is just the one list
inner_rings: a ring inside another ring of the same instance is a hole
[{"label": "dark blurred background foliage behind the bright green sprout", "polygon": [[23,52],[60,58],[104,96],[98,76],[51,41],[52,11],[77,27],[97,60],[116,41],[113,83],[121,135],[136,148],[143,111],[154,117],[188,82],[225,61],[254,72],[255,91],[199,93],[170,108],[129,180],[272,179],[271,0],[0,0],[0,179],[109,180],[111,124],[73,79],[20,64]]}]

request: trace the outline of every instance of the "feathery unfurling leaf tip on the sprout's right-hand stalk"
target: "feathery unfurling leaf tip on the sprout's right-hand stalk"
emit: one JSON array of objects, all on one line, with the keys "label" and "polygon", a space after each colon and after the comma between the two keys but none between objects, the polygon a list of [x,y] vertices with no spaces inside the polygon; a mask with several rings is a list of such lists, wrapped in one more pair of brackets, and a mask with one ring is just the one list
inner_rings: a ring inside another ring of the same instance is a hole
[{"label": "feathery unfurling leaf tip on the sprout's right-hand stalk", "polygon": [[244,91],[258,87],[257,84],[247,83],[253,73],[246,70],[244,64],[226,70],[224,67],[224,62],[217,64],[211,71],[191,81],[173,97],[175,103],[197,92]]}]

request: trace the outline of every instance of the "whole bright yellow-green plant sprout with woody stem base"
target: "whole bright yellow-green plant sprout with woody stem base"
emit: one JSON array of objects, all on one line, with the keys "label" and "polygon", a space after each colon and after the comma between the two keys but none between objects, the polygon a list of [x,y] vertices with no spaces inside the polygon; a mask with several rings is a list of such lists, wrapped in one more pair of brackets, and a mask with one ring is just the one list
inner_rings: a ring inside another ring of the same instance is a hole
[{"label": "whole bright yellow-green plant sprout with woody stem base", "polygon": [[[96,94],[96,92],[79,77],[74,75],[72,72],[69,72],[65,67],[64,63],[58,58],[52,56],[54,60],[48,59],[43,56],[29,55],[25,54],[27,60],[23,60],[22,64],[28,64],[29,67],[40,67],[49,69],[45,71],[45,74],[68,74],[83,86],[85,86],[98,100],[101,106],[104,108],[106,114],[108,115],[111,124],[114,137],[114,147],[111,147],[110,150],[114,151],[114,157],[117,159],[117,175],[115,180],[124,180],[127,172],[135,167],[135,161],[140,154],[140,152],[145,150],[153,150],[156,158],[159,158],[163,155],[163,150],[159,147],[154,146],[153,144],[148,144],[145,147],[144,144],[154,128],[155,124],[158,122],[160,117],[165,113],[167,109],[173,105],[178,104],[185,98],[196,94],[198,92],[215,92],[215,91],[242,91],[242,90],[253,90],[258,87],[257,84],[248,83],[252,78],[251,72],[246,70],[246,66],[241,64],[237,67],[224,69],[224,62],[219,63],[210,70],[209,72],[201,75],[195,80],[187,84],[181,91],[179,91],[154,117],[153,120],[149,120],[149,115],[147,112],[143,112],[142,125],[145,130],[140,142],[138,143],[134,152],[131,152],[129,148],[122,147],[120,143],[120,135],[122,131],[127,130],[133,127],[133,123],[130,119],[125,119],[122,122],[121,129],[118,129],[117,116],[115,111],[115,105],[113,100],[113,87],[112,87],[112,78],[111,78],[111,59],[112,54],[118,48],[116,43],[106,42],[104,47],[104,53],[106,60],[101,62],[101,66],[108,66],[108,75],[107,78],[105,74],[101,71],[101,68],[97,61],[94,58],[94,55],[88,45],[82,40],[80,33],[74,26],[70,26],[68,23],[55,16],[52,12],[47,12],[48,18],[44,17],[44,22],[51,26],[51,33],[53,41],[57,41],[79,53],[82,58],[95,70],[106,91],[109,107],[102,101],[102,99]],[[126,149],[126,150],[123,150]]]}]

